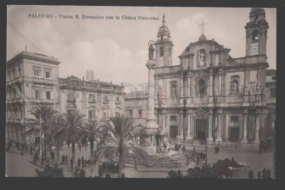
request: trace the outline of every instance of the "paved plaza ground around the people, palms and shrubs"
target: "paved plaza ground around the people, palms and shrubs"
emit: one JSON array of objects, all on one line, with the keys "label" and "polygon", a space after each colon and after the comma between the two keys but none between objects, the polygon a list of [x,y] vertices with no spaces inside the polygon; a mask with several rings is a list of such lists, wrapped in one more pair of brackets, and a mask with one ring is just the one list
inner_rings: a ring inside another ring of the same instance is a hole
[{"label": "paved plaza ground around the people, palms and shrubs", "polygon": [[[200,151],[198,151],[200,153]],[[68,158],[70,160],[72,151],[71,148],[64,148],[60,152],[60,161],[63,154],[67,154]],[[84,158],[89,158],[90,156],[90,149],[88,148],[82,148],[81,151],[78,150],[78,148],[75,149],[76,154],[76,160],[82,156]],[[262,153],[261,155],[258,155],[256,152],[244,152],[240,150],[231,150],[231,149],[220,149],[218,154],[215,154],[213,148],[208,149],[208,163],[214,163],[218,159],[224,159],[232,157],[235,158],[238,162],[247,163],[250,166],[250,169],[254,172],[254,178],[257,178],[257,172],[261,171],[263,168],[269,168],[272,171],[273,167],[273,151],[269,151],[267,153]],[[15,154],[15,153],[7,153],[6,154],[6,173],[10,177],[36,177],[37,173],[35,172],[35,169],[41,169],[41,167],[29,162],[31,160],[31,156],[29,154],[24,154],[24,156],[21,156],[21,154]],[[138,171],[134,168],[134,166],[126,164],[127,167],[123,169],[123,172],[126,174],[126,177],[140,177],[140,178],[165,178],[167,176],[167,171]],[[65,177],[73,177],[73,173],[69,171],[71,169],[70,167],[70,161],[68,165],[64,165],[64,176]],[[85,169],[85,176],[90,176],[90,167],[86,167]],[[169,169],[170,170],[170,169]],[[94,169],[94,176],[98,176],[97,168]],[[240,171],[238,173],[238,176],[235,178],[248,178],[248,172],[247,169],[246,172]],[[186,174],[186,172],[183,172]],[[111,174],[111,177],[117,177],[118,174]],[[105,176],[105,173],[103,173],[103,176]]]}]

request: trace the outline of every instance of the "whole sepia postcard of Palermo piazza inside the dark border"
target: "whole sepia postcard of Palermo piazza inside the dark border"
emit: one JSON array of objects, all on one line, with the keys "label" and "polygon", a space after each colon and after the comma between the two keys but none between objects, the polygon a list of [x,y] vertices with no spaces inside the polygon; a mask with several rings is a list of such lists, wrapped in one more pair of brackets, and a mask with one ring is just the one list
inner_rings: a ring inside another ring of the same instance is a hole
[{"label": "whole sepia postcard of Palermo piazza inside the dark border", "polygon": [[8,5],[6,177],[275,179],[276,21]]}]

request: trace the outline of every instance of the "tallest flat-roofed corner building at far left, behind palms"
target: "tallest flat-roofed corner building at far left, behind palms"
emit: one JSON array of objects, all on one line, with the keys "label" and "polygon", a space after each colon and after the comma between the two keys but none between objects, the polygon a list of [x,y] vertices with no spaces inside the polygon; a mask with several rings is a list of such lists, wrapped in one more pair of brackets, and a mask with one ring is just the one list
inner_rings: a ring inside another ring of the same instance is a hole
[{"label": "tallest flat-roofed corner building at far left, behind palms", "polygon": [[58,106],[59,64],[56,58],[25,51],[7,61],[7,141],[24,143],[25,122],[32,117],[33,106]]}]

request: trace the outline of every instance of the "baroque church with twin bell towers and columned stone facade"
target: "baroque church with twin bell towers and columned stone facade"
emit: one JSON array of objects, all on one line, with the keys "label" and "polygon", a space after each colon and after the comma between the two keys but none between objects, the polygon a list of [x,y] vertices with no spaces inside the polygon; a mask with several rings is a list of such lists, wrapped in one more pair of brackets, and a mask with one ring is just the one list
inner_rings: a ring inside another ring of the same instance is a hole
[{"label": "baroque church with twin bell towers and columned stone facade", "polygon": [[154,43],[154,111],[170,139],[258,148],[269,137],[275,108],[266,105],[268,28],[265,10],[252,8],[244,57],[233,58],[231,49],[202,32],[173,66],[174,43],[163,16]]}]

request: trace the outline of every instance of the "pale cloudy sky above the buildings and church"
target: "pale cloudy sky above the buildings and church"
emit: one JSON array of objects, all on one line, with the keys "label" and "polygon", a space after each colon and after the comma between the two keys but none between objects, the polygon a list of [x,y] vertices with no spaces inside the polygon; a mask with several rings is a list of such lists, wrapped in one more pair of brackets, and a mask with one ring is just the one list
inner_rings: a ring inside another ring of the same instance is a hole
[{"label": "pale cloudy sky above the buildings and church", "polygon": [[[208,39],[214,38],[230,48],[232,57],[245,56],[244,26],[249,22],[250,12],[250,8],[9,6],[7,9],[8,22],[14,26],[14,30],[7,26],[7,60],[24,51],[27,45],[28,52],[58,58],[61,78],[71,75],[82,78],[86,70],[94,70],[95,80],[134,85],[147,82],[147,44],[157,40],[163,14],[174,43],[173,65],[179,65],[178,56],[201,35],[198,25],[202,21],[207,23],[204,34]],[[276,10],[265,9],[265,12],[269,23],[268,69],[276,69]],[[29,18],[29,14],[53,17]],[[72,15],[73,19],[60,19],[60,14]],[[76,14],[80,19],[75,19]],[[82,19],[82,15],[99,15],[104,19]],[[105,19],[116,15],[120,20]],[[122,20],[122,16],[137,20]],[[139,16],[159,20],[138,20]]]}]

